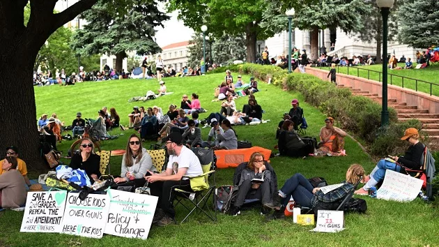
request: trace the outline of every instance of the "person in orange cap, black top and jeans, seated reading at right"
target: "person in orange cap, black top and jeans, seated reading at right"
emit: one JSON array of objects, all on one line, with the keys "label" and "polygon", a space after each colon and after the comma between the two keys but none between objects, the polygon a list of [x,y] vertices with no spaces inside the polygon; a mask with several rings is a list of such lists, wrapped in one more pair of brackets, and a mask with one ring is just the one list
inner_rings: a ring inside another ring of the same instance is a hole
[{"label": "person in orange cap, black top and jeans, seated reading at right", "polygon": [[413,170],[419,170],[423,165],[421,163],[422,153],[424,152],[424,144],[419,142],[419,133],[416,128],[408,128],[404,131],[401,140],[406,140],[410,142],[410,147],[408,147],[406,154],[404,156],[389,156],[396,163],[390,161],[389,159],[382,159],[378,161],[376,167],[373,168],[371,174],[364,178],[363,188],[355,190],[355,195],[367,195],[369,189],[372,186],[376,186],[379,182],[384,180],[386,170],[394,170],[395,172],[405,172],[404,168],[408,167]]}]

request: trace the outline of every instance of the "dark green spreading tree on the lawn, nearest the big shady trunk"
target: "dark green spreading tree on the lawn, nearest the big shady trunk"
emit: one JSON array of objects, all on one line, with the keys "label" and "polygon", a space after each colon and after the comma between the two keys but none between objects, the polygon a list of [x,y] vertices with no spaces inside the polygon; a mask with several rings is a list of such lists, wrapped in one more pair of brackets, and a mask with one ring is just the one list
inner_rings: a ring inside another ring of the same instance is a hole
[{"label": "dark green spreading tree on the lawn, nearest the big shady trunk", "polygon": [[163,27],[162,22],[169,17],[158,10],[156,1],[132,0],[126,6],[125,14],[108,12],[111,4],[99,0],[91,10],[84,12],[88,24],[75,33],[75,50],[84,55],[115,54],[116,70],[122,70],[127,51],[137,51],[137,54],[161,52],[153,39],[154,28]]}]

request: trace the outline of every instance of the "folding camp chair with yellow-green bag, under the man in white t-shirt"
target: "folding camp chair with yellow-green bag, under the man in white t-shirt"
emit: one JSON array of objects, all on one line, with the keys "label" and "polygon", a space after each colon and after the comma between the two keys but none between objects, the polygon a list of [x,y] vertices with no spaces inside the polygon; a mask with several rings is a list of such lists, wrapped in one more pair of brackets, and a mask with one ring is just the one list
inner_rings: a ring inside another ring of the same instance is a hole
[{"label": "folding camp chair with yellow-green bag, under the man in white t-shirt", "polygon": [[[178,193],[178,197],[176,197],[176,205],[182,204],[185,209],[189,211],[189,214],[181,220],[180,223],[183,223],[194,211],[198,213],[202,212],[206,216],[208,216],[211,220],[217,220],[217,209],[215,207],[215,196],[213,196],[213,192],[215,191],[215,153],[212,149],[202,149],[195,148],[194,153],[199,157],[201,167],[203,168],[203,174],[197,177],[186,177],[190,179],[190,186],[192,191],[185,191],[179,188],[174,188],[174,190]],[[206,163],[206,161],[210,159],[210,162]],[[205,163],[205,164],[203,164]],[[209,177],[213,177],[213,185],[209,184]],[[212,196],[213,198],[213,207],[208,207],[208,199]],[[183,200],[188,200],[190,205],[187,206],[183,203]],[[176,206],[175,205],[175,206]],[[191,209],[192,206],[192,209]],[[214,212],[212,212],[212,208]]]}]

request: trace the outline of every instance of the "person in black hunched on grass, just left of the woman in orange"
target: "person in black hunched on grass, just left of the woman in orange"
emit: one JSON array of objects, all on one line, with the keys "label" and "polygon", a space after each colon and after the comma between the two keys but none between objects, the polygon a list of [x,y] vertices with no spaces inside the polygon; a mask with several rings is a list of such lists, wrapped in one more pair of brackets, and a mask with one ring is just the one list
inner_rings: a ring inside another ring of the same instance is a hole
[{"label": "person in black hunched on grass, just left of the woman in orange", "polygon": [[305,157],[314,153],[314,147],[305,144],[293,129],[294,123],[291,120],[285,120],[282,124],[282,130],[279,134],[277,145],[279,153],[282,156]]}]

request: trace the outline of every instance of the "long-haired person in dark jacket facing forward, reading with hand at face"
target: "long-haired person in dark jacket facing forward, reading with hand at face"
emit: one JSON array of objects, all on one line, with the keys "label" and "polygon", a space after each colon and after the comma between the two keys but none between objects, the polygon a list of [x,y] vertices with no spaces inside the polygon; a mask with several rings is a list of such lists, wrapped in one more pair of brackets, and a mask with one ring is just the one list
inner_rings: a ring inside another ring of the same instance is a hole
[{"label": "long-haired person in dark jacket facing forward, reading with hand at face", "polygon": [[[240,208],[244,204],[245,197],[247,197],[251,190],[254,190],[254,194],[257,193],[256,195],[259,195],[256,198],[261,200],[262,204],[270,203],[272,193],[275,192],[271,191],[270,186],[270,182],[273,179],[274,173],[265,166],[263,155],[259,152],[254,152],[250,156],[250,160],[245,165],[245,168],[240,172],[238,195],[231,208],[231,215],[238,216],[240,214]],[[265,211],[261,210],[261,213],[265,214]]]}]

